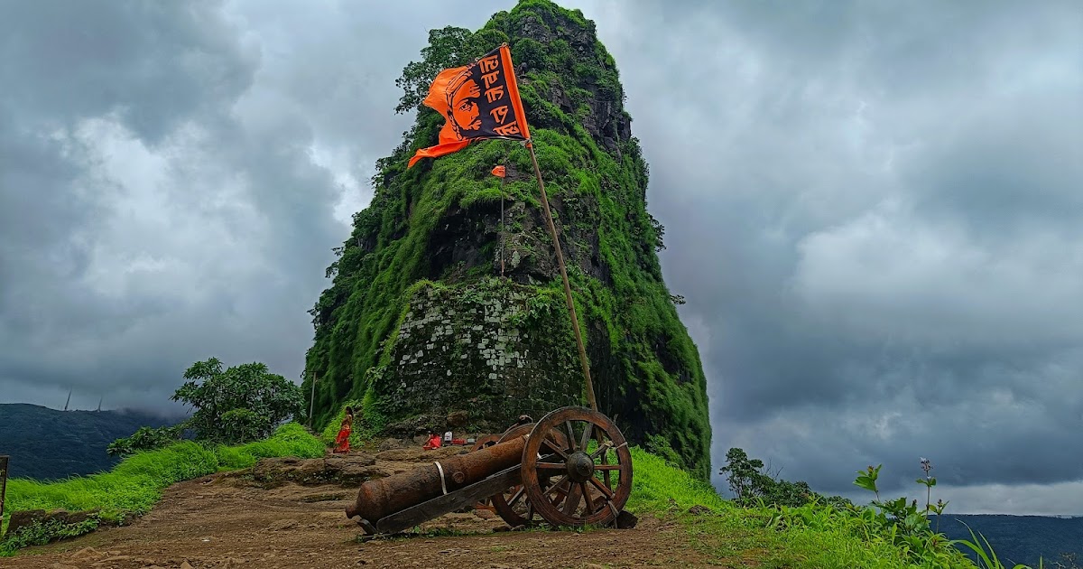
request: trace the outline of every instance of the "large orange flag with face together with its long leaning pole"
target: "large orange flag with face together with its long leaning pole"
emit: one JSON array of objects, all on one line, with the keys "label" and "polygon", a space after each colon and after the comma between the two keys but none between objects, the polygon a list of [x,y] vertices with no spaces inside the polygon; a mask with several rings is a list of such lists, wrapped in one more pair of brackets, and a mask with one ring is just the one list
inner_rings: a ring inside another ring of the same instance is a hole
[{"label": "large orange flag with face together with its long leaning pole", "polygon": [[564,255],[560,250],[560,237],[557,235],[557,225],[552,222],[552,215],[549,211],[549,198],[545,192],[545,182],[542,181],[542,169],[534,154],[534,143],[526,125],[526,113],[523,112],[523,102],[519,96],[510,48],[507,43],[503,43],[469,65],[440,72],[429,86],[429,94],[422,103],[440,113],[446,121],[440,130],[436,144],[418,148],[406,165],[407,168],[412,168],[421,158],[445,156],[466,148],[472,142],[486,139],[523,141],[530,148],[534,173],[542,190],[542,205],[545,207],[549,235],[557,249],[557,264],[564,281],[564,297],[567,300],[567,312],[572,316],[575,344],[579,347],[579,361],[587,383],[587,401],[590,402],[591,410],[598,411],[595,386],[590,380],[590,366],[587,364],[587,351],[583,348],[583,336],[579,334],[579,319],[575,314],[575,302],[572,300],[572,285],[567,281]]}]

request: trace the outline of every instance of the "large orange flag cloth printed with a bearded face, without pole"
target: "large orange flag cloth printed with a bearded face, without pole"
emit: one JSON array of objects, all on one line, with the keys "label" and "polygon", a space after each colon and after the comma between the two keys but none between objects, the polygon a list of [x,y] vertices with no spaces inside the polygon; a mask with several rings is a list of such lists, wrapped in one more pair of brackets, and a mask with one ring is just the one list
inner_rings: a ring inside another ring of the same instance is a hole
[{"label": "large orange flag cloth printed with a bearded face, without pole", "polygon": [[531,138],[507,43],[470,65],[440,72],[423,103],[443,115],[446,122],[440,130],[440,142],[419,148],[407,168],[421,158],[459,152],[475,140]]}]

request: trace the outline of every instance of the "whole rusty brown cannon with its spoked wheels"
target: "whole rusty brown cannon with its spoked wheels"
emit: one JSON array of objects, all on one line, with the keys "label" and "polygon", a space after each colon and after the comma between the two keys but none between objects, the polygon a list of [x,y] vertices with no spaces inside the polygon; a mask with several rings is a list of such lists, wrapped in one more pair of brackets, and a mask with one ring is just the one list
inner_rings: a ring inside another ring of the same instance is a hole
[{"label": "whole rusty brown cannon with its spoked wheels", "polygon": [[481,439],[468,453],[361,484],[347,517],[391,534],[469,507],[511,527],[609,526],[631,494],[631,454],[616,425],[580,406]]}]

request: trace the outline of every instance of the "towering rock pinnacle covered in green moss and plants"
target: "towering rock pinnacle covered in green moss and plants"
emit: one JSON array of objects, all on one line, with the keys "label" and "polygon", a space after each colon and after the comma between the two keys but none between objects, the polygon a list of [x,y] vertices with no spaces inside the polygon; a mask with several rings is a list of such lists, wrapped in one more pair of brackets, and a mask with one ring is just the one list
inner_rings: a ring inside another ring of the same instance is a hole
[{"label": "towering rock pinnacle covered in green moss and plants", "polygon": [[[508,42],[560,233],[599,410],[632,443],[706,478],[710,428],[695,346],[673,305],[647,211],[648,166],[631,135],[616,65],[579,11],[522,0],[475,33],[430,33],[404,69],[401,111],[417,112],[377,163],[376,194],[328,268],[311,311],[305,392],[315,423],[348,402],[363,429],[503,429],[585,404],[571,321],[530,155],[511,141],[406,163],[436,142],[438,113],[418,103],[440,69]],[[505,217],[500,181],[507,167]],[[501,231],[503,228],[503,231]],[[500,259],[505,279],[500,279]]]}]

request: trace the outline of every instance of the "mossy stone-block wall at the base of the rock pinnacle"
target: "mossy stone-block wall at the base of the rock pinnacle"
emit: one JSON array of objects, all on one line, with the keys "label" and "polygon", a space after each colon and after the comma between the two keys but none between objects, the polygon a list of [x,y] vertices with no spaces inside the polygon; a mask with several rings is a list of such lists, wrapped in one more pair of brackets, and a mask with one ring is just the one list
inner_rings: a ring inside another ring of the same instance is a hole
[{"label": "mossy stone-block wall at the base of the rock pinnacle", "polygon": [[428,413],[434,424],[418,426],[441,431],[448,415],[465,411],[462,426],[501,432],[520,415],[537,419],[554,406],[582,404],[566,305],[545,293],[499,281],[416,289],[384,348],[390,364],[371,376],[383,413],[399,423]]}]

